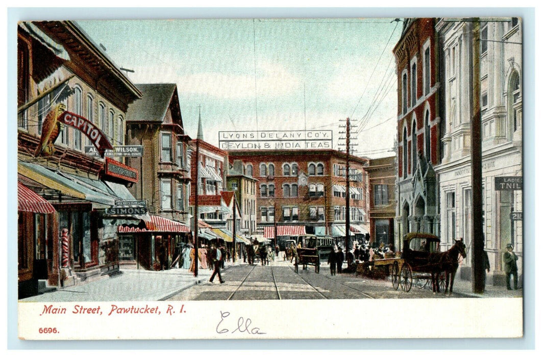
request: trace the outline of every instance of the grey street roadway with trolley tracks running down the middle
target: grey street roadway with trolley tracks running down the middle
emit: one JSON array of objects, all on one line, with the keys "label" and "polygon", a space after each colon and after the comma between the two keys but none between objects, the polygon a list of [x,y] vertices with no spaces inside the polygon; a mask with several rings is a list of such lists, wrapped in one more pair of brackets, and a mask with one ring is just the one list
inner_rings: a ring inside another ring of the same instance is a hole
[{"label": "grey street roadway with trolley tracks running down the middle", "polygon": [[[204,274],[205,271],[200,271]],[[210,276],[210,275],[209,275]],[[208,280],[209,276],[203,277]],[[470,282],[455,279],[452,295],[433,294],[426,285],[412,287],[408,292],[395,290],[390,279],[376,280],[354,274],[341,273],[330,276],[329,266],[323,261],[319,273],[314,267],[296,273],[288,261],[275,261],[271,265],[240,264],[230,266],[222,272],[224,284],[218,278],[194,285],[171,301],[187,300],[298,300],[298,299],[444,299],[448,297],[474,297]],[[521,296],[521,290],[506,291],[502,287],[489,287],[490,297]],[[487,290],[486,290],[487,291]],[[493,295],[494,294],[494,295]]]}]

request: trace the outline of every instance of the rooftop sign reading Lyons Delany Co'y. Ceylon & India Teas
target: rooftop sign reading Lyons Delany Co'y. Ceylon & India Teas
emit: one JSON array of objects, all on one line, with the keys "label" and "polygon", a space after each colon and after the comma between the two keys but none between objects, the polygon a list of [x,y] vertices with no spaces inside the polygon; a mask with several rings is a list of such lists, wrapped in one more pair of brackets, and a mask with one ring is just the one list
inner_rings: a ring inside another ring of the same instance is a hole
[{"label": "rooftop sign reading Lyons Delany Co'y. Ceylon & India Teas", "polygon": [[302,150],[332,148],[332,130],[218,132],[222,150]]}]

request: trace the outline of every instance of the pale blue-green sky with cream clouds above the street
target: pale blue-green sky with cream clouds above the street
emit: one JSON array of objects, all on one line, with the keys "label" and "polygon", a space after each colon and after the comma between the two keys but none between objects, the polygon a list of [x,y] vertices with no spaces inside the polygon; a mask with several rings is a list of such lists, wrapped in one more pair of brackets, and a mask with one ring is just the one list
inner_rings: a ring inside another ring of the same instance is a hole
[{"label": "pale blue-green sky with cream clouds above the street", "polygon": [[[393,156],[394,19],[93,20],[78,25],[135,84],[176,83],[186,133],[333,130],[354,154]],[[340,122],[342,121],[342,122]]]}]

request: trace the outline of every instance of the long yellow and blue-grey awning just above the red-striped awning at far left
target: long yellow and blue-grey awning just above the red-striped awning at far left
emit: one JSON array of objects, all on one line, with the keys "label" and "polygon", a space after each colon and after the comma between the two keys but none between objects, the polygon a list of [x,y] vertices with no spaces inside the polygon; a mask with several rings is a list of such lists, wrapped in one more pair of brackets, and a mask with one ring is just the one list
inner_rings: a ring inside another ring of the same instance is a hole
[{"label": "long yellow and blue-grey awning just above the red-striped awning at far left", "polygon": [[[26,176],[31,180],[40,182],[49,188],[60,191],[67,196],[108,206],[114,206],[115,204],[116,199],[113,195],[100,192],[98,189],[93,190],[85,183],[82,183],[84,180],[74,179],[74,175],[62,174],[62,172],[52,171],[44,166],[26,162],[19,162],[17,164],[17,171],[19,171],[19,174]],[[79,181],[80,183],[76,181]]]}]

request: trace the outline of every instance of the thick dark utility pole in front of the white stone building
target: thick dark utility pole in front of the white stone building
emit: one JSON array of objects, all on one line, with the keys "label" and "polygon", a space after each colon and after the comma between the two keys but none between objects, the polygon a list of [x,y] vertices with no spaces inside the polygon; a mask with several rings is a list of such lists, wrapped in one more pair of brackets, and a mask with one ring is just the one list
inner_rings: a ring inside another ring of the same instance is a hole
[{"label": "thick dark utility pole in front of the white stone building", "polygon": [[470,166],[472,181],[472,269],[473,291],[484,292],[483,269],[483,216],[482,216],[482,114],[480,83],[480,22],[477,17],[472,20],[472,118],[470,122]]}]

